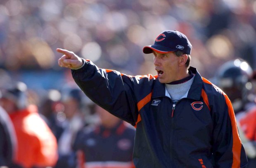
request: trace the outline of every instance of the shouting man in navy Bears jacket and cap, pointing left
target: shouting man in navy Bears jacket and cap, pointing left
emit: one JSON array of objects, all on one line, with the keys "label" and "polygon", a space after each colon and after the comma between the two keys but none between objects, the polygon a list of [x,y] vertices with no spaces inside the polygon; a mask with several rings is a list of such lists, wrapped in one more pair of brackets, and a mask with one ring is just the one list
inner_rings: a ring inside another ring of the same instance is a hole
[{"label": "shouting man in navy Bears jacket and cap, pointing left", "polygon": [[192,45],[179,31],[164,31],[154,45],[157,76],[127,76],[99,69],[73,52],[59,66],[71,68],[85,94],[136,127],[136,168],[245,168],[247,157],[227,95],[190,67]]}]

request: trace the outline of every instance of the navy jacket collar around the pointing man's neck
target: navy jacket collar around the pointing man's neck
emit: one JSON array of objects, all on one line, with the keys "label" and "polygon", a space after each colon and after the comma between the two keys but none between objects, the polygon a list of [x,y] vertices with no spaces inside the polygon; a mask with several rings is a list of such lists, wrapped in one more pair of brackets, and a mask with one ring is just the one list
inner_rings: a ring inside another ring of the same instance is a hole
[{"label": "navy jacket collar around the pointing man's neck", "polygon": [[[189,70],[195,74],[195,77],[194,77],[194,81],[190,87],[190,90],[188,91],[187,98],[199,100],[201,97],[203,80],[196,68],[190,66]],[[165,91],[166,91],[166,89],[165,89],[164,83],[160,83],[157,78],[154,88],[153,88],[152,98],[165,97],[166,96]]]}]

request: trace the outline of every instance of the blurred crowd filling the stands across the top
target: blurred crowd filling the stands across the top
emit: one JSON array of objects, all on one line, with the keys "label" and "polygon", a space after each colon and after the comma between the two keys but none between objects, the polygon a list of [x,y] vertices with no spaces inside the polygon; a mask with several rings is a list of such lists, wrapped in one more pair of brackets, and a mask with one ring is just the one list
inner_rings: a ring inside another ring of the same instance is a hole
[{"label": "blurred crowd filling the stands across the top", "polygon": [[175,29],[191,39],[192,66],[207,78],[237,57],[256,68],[256,2],[248,0],[2,0],[0,66],[61,71],[54,54],[61,47],[137,74],[149,62],[140,50],[153,40],[148,34]]}]

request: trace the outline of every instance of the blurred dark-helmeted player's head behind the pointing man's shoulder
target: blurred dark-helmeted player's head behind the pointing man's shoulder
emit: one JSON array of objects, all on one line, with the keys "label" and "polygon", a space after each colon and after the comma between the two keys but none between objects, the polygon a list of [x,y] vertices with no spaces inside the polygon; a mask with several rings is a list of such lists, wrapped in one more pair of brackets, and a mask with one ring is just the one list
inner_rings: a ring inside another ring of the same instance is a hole
[{"label": "blurred dark-helmeted player's head behind the pointing man's shoulder", "polygon": [[251,67],[242,59],[226,62],[220,66],[217,73],[217,85],[228,95],[237,119],[239,118],[238,115],[250,106],[248,96],[252,89],[249,82],[251,76]]}]

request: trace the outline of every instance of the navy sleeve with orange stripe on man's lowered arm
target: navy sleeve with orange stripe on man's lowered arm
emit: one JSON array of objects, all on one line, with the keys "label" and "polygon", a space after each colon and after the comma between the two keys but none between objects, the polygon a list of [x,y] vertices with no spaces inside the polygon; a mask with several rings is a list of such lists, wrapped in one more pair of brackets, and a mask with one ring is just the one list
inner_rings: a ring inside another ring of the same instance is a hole
[{"label": "navy sleeve with orange stripe on man's lowered arm", "polygon": [[247,157],[240,140],[232,104],[225,93],[215,100],[213,107],[213,157],[216,168],[246,168]]}]

